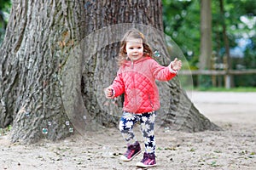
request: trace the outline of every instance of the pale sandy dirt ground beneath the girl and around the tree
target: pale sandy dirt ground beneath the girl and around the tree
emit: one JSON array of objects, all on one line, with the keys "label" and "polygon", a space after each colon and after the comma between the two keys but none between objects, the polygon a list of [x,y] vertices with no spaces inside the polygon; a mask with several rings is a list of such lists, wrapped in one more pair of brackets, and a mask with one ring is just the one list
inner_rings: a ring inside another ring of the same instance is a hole
[{"label": "pale sandy dirt ground beneath the girl and around the tree", "polygon": [[[224,130],[183,133],[158,128],[155,133],[158,166],[152,169],[255,169],[255,97],[256,93],[193,92],[191,99],[196,107]],[[136,133],[143,143],[138,128]],[[87,133],[84,137],[77,134],[55,143],[42,140],[30,145],[10,144],[8,136],[2,136],[0,150],[0,167],[9,170],[131,170],[138,169],[136,162],[143,156],[130,162],[119,161],[125,152],[125,142],[117,128]]]}]

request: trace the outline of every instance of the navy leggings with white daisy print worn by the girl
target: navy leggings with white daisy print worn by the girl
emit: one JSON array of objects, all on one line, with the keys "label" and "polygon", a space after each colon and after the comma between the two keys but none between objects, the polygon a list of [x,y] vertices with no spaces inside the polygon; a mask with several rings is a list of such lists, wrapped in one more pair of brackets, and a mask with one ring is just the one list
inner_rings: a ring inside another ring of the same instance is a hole
[{"label": "navy leggings with white daisy print worn by the girl", "polygon": [[156,112],[148,112],[143,114],[134,114],[125,112],[119,122],[119,130],[122,133],[125,141],[128,144],[135,144],[137,139],[133,133],[133,126],[136,122],[141,123],[141,132],[145,144],[146,153],[154,153],[155,139],[154,139],[154,120]]}]

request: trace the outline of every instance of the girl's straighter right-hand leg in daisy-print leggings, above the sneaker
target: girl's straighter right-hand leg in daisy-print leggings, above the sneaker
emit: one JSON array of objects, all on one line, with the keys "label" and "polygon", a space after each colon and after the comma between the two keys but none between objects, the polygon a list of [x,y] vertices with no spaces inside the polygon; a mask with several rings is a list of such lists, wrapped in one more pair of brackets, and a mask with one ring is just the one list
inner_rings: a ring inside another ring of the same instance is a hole
[{"label": "girl's straighter right-hand leg in daisy-print leggings, above the sneaker", "polygon": [[154,120],[156,112],[143,113],[141,115],[141,131],[143,133],[145,153],[153,153],[155,151],[155,139],[154,139]]}]

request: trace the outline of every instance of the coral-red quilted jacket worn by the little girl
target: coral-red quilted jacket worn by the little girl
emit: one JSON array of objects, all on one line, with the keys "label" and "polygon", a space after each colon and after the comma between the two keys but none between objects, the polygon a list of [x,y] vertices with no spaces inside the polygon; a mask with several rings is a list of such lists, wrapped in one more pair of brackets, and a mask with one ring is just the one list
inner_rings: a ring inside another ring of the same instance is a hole
[{"label": "coral-red quilted jacket worn by the little girl", "polygon": [[[172,64],[171,64],[172,65]],[[177,75],[172,66],[159,65],[151,57],[127,60],[120,66],[113,80],[113,98],[125,93],[123,111],[144,113],[160,109],[160,98],[155,80],[168,81]]]}]

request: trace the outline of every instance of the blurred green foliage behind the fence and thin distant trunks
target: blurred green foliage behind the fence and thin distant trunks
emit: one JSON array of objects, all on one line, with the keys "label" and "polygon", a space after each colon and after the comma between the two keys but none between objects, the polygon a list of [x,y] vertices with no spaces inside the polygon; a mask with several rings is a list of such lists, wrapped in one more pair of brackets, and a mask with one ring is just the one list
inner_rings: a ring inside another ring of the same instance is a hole
[{"label": "blurred green foliage behind the fence and thin distant trunks", "polygon": [[[189,61],[189,69],[199,69],[201,41],[201,0],[162,0],[164,29],[167,36],[182,49]],[[220,3],[223,3],[224,14]],[[11,1],[0,0],[0,45],[8,24]],[[223,21],[230,46],[230,69],[256,69],[256,3],[255,0],[212,0],[212,54],[216,70],[224,70]],[[224,15],[224,16],[222,16]],[[205,76],[202,88],[224,87],[224,77],[212,85],[212,77]],[[194,86],[197,77],[193,76]],[[233,87],[256,87],[256,75],[236,75]]]}]

